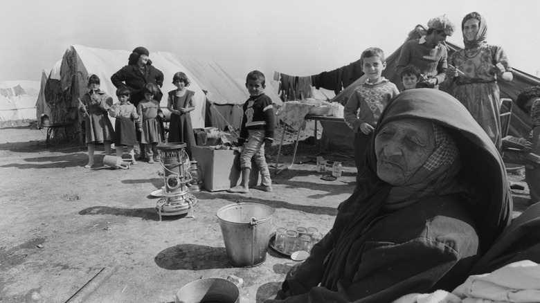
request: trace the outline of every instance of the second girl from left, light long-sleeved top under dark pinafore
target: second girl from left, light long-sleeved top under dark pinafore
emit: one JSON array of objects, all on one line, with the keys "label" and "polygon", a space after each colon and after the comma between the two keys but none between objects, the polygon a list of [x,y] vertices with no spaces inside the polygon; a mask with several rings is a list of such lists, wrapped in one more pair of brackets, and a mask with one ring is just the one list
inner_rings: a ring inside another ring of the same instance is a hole
[{"label": "second girl from left, light long-sleeved top under dark pinafore", "polygon": [[109,109],[109,115],[116,118],[115,123],[115,145],[116,156],[122,157],[124,147],[127,147],[127,154],[132,164],[137,164],[135,160],[134,147],[138,145],[135,124],[139,123],[137,109],[129,102],[130,91],[126,86],[121,86],[116,90],[116,96],[120,102],[114,104]]}]

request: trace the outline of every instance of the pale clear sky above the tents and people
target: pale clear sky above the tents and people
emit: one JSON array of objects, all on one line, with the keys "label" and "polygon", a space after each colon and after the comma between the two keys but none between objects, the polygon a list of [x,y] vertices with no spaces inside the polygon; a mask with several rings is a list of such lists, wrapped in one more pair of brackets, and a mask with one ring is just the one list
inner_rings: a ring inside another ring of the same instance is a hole
[{"label": "pale clear sky above the tents and people", "polygon": [[241,62],[267,77],[313,75],[356,61],[370,46],[390,55],[437,15],[454,21],[448,41],[462,46],[461,20],[472,11],[485,16],[487,41],[503,46],[514,68],[540,71],[538,0],[1,0],[0,7],[0,81],[40,80],[72,44]]}]

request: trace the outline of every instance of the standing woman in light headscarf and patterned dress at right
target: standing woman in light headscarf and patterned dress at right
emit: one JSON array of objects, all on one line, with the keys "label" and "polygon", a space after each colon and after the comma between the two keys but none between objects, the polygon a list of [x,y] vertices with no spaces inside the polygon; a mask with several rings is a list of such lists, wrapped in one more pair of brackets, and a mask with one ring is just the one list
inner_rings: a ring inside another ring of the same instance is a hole
[{"label": "standing woman in light headscarf and patterned dress at right", "polygon": [[456,84],[450,89],[451,95],[467,107],[501,151],[501,100],[497,80],[512,81],[512,68],[503,48],[485,41],[487,24],[478,12],[463,18],[461,30],[465,49],[449,58],[445,82]]}]

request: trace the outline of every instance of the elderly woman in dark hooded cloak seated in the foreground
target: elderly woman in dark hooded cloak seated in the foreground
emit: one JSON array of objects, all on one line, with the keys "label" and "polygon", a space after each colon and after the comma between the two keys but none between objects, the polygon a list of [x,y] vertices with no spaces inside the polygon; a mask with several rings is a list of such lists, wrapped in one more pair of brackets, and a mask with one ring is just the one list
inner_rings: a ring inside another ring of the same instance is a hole
[{"label": "elderly woman in dark hooded cloak seated in the foreground", "polygon": [[451,95],[404,91],[374,135],[365,179],[267,302],[391,302],[451,291],[510,223],[501,156]]}]

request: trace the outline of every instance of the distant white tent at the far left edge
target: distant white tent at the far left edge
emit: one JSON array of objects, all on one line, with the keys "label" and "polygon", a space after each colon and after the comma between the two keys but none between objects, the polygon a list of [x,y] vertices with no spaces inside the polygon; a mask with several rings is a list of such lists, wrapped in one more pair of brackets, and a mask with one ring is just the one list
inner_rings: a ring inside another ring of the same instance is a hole
[{"label": "distant white tent at the far left edge", "polygon": [[39,81],[0,82],[0,121],[35,119]]}]

